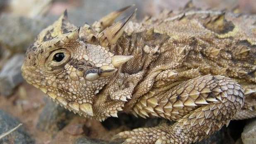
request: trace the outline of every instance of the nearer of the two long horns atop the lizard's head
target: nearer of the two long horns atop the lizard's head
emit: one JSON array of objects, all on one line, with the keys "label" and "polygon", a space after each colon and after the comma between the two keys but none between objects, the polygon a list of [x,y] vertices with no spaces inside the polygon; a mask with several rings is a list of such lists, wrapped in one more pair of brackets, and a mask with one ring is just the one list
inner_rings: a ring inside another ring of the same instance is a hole
[{"label": "nearer of the two long horns atop the lizard's head", "polygon": [[98,38],[100,45],[106,47],[109,46],[109,44],[116,44],[116,41],[122,36],[124,29],[126,28],[130,19],[135,15],[136,11],[137,9],[135,9],[130,16],[125,17],[113,26],[110,26],[99,33]]}]

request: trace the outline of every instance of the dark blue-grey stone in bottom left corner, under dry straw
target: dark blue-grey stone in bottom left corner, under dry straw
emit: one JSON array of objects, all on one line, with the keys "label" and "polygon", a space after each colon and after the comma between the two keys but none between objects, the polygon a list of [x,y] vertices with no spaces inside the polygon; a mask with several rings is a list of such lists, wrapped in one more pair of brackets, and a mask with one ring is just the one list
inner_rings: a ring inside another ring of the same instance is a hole
[{"label": "dark blue-grey stone in bottom left corner, under dry straw", "polygon": [[[7,132],[21,123],[16,118],[0,110],[0,135]],[[24,126],[11,132],[9,135],[0,139],[0,144],[34,144],[34,139],[24,129]]]}]

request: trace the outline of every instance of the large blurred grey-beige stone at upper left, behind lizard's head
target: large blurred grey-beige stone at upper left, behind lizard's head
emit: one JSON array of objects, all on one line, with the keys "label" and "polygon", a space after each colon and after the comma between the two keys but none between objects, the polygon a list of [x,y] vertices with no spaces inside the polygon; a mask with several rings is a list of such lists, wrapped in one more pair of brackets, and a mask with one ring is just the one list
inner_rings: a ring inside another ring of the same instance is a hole
[{"label": "large blurred grey-beige stone at upper left, behind lizard's head", "polygon": [[0,16],[0,45],[11,53],[25,52],[48,24],[47,20],[2,14]]}]

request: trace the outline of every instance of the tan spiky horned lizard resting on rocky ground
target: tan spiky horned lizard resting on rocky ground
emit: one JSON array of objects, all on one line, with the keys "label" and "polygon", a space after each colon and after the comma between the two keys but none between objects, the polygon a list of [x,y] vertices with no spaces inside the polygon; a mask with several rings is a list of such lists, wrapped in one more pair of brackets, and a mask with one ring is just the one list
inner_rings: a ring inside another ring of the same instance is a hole
[{"label": "tan spiky horned lizard resting on rocky ground", "polygon": [[123,144],[189,144],[256,116],[256,16],[129,7],[76,27],[65,11],[26,53],[22,75],[53,101],[104,121],[118,111],[176,121],[118,133]]}]

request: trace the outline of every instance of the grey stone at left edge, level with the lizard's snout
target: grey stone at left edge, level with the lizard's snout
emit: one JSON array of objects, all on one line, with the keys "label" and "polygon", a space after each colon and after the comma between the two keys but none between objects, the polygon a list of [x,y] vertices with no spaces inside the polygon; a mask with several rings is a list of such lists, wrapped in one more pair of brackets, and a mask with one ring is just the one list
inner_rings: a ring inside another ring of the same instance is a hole
[{"label": "grey stone at left edge, level with the lizard's snout", "polygon": [[21,67],[24,60],[23,54],[16,54],[8,60],[0,71],[0,93],[11,95],[13,89],[22,83]]}]

